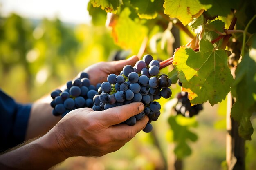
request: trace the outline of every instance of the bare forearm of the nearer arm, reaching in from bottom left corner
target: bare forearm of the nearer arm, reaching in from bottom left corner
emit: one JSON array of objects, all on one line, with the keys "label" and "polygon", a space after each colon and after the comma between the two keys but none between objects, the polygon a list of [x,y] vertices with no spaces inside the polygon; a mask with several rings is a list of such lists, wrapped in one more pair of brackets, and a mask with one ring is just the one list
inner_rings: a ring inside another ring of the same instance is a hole
[{"label": "bare forearm of the nearer arm, reaching in from bottom left corner", "polygon": [[2,170],[46,170],[66,157],[51,132],[28,144],[0,155]]}]

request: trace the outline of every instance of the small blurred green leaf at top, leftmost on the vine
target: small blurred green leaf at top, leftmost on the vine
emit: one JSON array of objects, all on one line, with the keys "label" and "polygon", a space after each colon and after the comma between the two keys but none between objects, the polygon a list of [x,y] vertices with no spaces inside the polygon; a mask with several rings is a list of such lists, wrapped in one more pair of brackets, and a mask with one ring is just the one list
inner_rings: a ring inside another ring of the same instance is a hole
[{"label": "small blurred green leaf at top, leftmost on the vine", "polygon": [[88,3],[87,10],[89,15],[92,16],[92,23],[94,25],[105,25],[106,22],[106,12],[103,11],[100,7],[93,7],[92,3]]}]

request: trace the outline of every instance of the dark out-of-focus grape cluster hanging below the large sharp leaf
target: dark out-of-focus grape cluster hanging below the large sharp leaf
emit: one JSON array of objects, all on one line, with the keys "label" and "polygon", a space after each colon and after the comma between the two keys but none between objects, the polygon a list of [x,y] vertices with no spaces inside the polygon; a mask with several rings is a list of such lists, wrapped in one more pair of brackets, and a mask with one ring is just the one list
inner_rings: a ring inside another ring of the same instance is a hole
[{"label": "dark out-of-focus grape cluster hanging below the large sharp leaf", "polygon": [[191,106],[187,92],[178,93],[177,99],[178,102],[175,106],[175,111],[177,114],[181,114],[184,117],[193,117],[194,115],[197,115],[200,110],[203,110],[202,104]]}]

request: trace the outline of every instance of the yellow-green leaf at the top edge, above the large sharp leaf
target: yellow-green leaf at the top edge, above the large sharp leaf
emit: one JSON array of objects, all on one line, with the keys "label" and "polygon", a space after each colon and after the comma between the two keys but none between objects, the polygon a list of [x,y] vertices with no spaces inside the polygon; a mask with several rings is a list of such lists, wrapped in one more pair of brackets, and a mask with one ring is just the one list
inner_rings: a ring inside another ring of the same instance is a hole
[{"label": "yellow-green leaf at the top edge, above the large sharp leaf", "polygon": [[211,5],[202,5],[199,0],[164,0],[164,13],[171,18],[178,18],[182,24],[189,24],[198,18]]}]

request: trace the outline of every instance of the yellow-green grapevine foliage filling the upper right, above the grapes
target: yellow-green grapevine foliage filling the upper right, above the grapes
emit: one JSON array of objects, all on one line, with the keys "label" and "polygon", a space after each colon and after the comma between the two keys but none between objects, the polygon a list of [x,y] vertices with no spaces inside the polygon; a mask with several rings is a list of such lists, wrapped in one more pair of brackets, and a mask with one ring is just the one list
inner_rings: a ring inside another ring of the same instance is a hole
[{"label": "yellow-green grapevine foliage filling the upper right, above the grapes", "polygon": [[[180,79],[192,105],[208,101],[213,106],[231,92],[235,102],[231,117],[240,124],[240,136],[251,139],[250,118],[256,111],[256,1],[90,0],[94,22],[103,10],[121,48],[137,54],[147,40],[145,53],[159,60],[173,56],[168,76],[174,83]],[[187,42],[174,54],[169,47],[173,27],[187,35]]]}]

